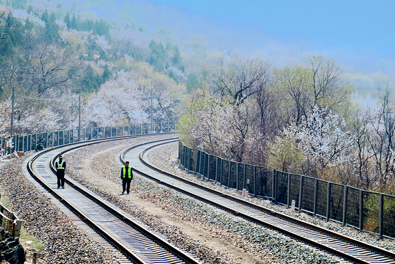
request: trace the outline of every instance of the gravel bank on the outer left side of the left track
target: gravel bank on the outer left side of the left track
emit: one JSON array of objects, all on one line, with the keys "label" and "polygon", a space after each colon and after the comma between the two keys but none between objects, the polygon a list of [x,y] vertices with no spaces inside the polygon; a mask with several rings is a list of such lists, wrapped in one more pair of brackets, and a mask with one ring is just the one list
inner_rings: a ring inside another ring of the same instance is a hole
[{"label": "gravel bank on the outer left side of the left track", "polygon": [[[30,156],[31,154],[19,159],[12,158],[3,164],[0,185],[9,195],[10,209],[24,220],[25,231],[45,244],[45,248],[40,250],[37,263],[118,263],[24,176],[22,165]],[[23,246],[27,247],[26,244]],[[27,258],[31,257],[32,252],[27,252]]]}]

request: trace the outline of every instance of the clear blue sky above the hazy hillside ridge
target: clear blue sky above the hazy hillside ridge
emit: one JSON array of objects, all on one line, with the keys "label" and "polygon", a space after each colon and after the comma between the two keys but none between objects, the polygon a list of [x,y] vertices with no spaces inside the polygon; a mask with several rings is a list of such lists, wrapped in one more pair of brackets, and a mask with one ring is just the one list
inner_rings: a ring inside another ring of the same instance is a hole
[{"label": "clear blue sky above the hazy hillside ridge", "polygon": [[253,25],[282,38],[393,53],[395,1],[153,0],[223,25]]}]

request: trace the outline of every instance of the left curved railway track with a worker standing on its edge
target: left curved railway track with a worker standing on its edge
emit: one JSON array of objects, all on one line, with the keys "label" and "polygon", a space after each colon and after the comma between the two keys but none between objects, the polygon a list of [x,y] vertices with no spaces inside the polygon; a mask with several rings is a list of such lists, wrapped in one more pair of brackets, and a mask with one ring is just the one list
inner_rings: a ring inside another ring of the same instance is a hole
[{"label": "left curved railway track with a worker standing on its edge", "polygon": [[[152,135],[150,135],[152,136]],[[66,189],[56,189],[53,164],[66,152],[90,144],[136,136],[92,140],[64,145],[39,152],[27,163],[28,172],[68,210],[72,220],[103,247],[112,250],[122,264],[200,264],[187,252],[170,244],[161,234],[105,201],[72,179],[65,179]]]}]

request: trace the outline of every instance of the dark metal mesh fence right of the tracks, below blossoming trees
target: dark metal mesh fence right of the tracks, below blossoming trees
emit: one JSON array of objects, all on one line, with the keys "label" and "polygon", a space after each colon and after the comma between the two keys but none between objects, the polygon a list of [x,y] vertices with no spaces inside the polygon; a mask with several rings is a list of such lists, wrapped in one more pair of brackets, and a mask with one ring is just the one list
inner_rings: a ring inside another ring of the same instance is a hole
[{"label": "dark metal mesh fence right of the tracks, below blossoming trees", "polygon": [[222,186],[271,199],[298,212],[320,216],[395,238],[395,196],[365,191],[313,177],[221,159],[179,142],[179,160],[186,170]]}]

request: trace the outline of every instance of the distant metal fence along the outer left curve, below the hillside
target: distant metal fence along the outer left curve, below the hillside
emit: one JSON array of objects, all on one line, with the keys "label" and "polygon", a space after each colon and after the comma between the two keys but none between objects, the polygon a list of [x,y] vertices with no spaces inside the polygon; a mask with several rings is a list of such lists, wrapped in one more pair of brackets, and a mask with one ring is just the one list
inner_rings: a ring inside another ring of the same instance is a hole
[{"label": "distant metal fence along the outer left curve, below the hillside", "polygon": [[38,143],[43,148],[62,146],[69,143],[87,141],[91,139],[109,138],[125,135],[139,135],[159,132],[175,132],[175,122],[144,123],[134,126],[97,127],[80,130],[63,130],[54,132],[41,132],[28,135],[16,134],[12,136],[13,147],[7,148],[6,142],[10,137],[0,138],[0,156],[9,155],[14,151],[29,152],[36,150]]}]

